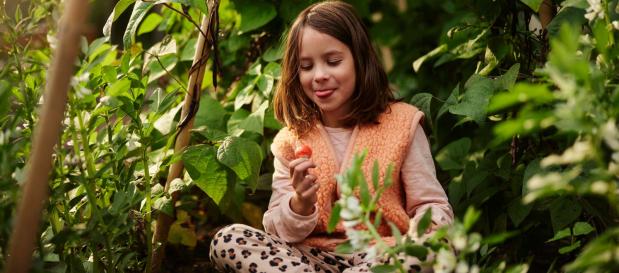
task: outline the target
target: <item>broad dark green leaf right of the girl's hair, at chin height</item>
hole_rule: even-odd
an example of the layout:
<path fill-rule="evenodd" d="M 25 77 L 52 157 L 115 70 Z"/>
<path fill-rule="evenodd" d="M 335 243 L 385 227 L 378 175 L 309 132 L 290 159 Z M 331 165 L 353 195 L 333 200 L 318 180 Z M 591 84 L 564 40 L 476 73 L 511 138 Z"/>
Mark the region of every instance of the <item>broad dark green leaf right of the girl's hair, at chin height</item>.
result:
<path fill-rule="evenodd" d="M 464 87 L 466 91 L 462 101 L 449 107 L 449 112 L 466 116 L 481 125 L 486 119 L 486 107 L 496 88 L 494 82 L 474 74 Z"/>

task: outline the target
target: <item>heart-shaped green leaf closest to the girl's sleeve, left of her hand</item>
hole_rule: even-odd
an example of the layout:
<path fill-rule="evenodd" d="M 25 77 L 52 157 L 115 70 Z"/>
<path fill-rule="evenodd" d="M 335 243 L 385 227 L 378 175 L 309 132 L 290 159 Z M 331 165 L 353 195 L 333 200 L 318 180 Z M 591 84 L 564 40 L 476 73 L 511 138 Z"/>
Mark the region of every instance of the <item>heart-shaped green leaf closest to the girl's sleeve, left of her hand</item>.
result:
<path fill-rule="evenodd" d="M 236 173 L 241 180 L 247 180 L 252 189 L 257 186 L 262 148 L 256 142 L 240 137 L 227 137 L 217 150 L 217 159 Z"/>

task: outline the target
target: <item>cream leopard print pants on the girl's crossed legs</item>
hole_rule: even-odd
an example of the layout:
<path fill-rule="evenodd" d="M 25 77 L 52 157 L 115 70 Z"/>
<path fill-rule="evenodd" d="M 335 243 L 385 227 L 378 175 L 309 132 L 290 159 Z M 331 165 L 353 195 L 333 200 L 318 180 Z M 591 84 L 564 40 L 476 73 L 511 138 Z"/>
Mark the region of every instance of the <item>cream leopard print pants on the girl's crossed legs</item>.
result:
<path fill-rule="evenodd" d="M 375 260 L 365 253 L 341 254 L 284 242 L 277 236 L 241 224 L 222 228 L 210 247 L 211 261 L 221 272 L 371 272 Z M 403 260 L 401 260 L 403 261 Z M 409 272 L 421 271 L 418 261 Z M 425 270 L 424 270 L 425 271 Z"/>

